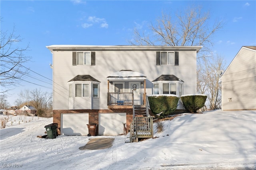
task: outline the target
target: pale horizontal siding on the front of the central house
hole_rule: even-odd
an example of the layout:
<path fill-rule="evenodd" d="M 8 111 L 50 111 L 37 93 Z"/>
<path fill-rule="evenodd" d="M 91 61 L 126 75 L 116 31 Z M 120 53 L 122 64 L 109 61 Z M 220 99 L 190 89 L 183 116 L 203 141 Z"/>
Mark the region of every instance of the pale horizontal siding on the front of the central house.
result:
<path fill-rule="evenodd" d="M 95 50 L 92 49 L 91 51 Z M 72 51 L 53 51 L 53 65 L 54 110 L 69 109 L 68 81 L 76 75 L 90 75 L 100 81 L 100 109 L 108 108 L 107 77 L 111 73 L 120 70 L 133 70 L 146 75 L 147 95 L 152 94 L 152 83 L 150 81 L 160 75 L 170 74 L 184 81 L 184 95 L 196 93 L 196 51 L 179 51 L 178 66 L 156 65 L 156 51 L 154 50 L 96 51 L 96 65 L 72 65 Z M 75 103 L 75 108 L 91 109 L 88 102 L 81 98 L 79 103 Z"/>

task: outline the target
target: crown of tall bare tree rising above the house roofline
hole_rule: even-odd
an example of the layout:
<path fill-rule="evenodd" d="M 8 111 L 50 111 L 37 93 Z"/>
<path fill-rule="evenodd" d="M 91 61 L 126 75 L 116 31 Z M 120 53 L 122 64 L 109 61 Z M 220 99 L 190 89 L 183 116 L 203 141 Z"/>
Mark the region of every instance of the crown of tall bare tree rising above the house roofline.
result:
<path fill-rule="evenodd" d="M 132 45 L 204 46 L 212 45 L 212 36 L 222 28 L 222 21 L 210 26 L 210 13 L 201 12 L 201 7 L 187 8 L 175 16 L 162 13 L 156 24 L 149 26 L 151 32 L 134 29 Z M 202 51 L 202 50 L 201 50 Z"/>

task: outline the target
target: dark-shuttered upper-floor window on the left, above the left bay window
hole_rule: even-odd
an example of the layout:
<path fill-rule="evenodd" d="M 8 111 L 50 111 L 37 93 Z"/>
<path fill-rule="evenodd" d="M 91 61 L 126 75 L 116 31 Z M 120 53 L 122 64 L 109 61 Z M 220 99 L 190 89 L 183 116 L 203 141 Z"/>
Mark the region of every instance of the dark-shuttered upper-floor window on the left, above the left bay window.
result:
<path fill-rule="evenodd" d="M 95 51 L 73 51 L 73 65 L 95 65 Z"/>

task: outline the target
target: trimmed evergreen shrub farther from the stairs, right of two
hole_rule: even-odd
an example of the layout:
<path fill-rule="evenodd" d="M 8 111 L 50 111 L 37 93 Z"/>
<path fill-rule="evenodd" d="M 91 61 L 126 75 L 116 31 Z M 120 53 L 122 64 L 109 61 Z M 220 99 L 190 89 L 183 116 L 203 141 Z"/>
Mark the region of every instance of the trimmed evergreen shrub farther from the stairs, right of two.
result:
<path fill-rule="evenodd" d="M 190 113 L 196 113 L 199 109 L 204 107 L 206 101 L 206 95 L 182 95 L 181 100 L 186 111 Z"/>

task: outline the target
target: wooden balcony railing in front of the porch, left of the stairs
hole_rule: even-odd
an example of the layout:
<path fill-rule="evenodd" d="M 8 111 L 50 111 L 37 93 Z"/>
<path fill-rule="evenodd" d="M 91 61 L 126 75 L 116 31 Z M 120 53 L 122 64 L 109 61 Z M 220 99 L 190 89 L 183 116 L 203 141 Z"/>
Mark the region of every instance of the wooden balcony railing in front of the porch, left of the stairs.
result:
<path fill-rule="evenodd" d="M 108 106 L 132 106 L 133 100 L 133 93 L 108 93 Z"/>

